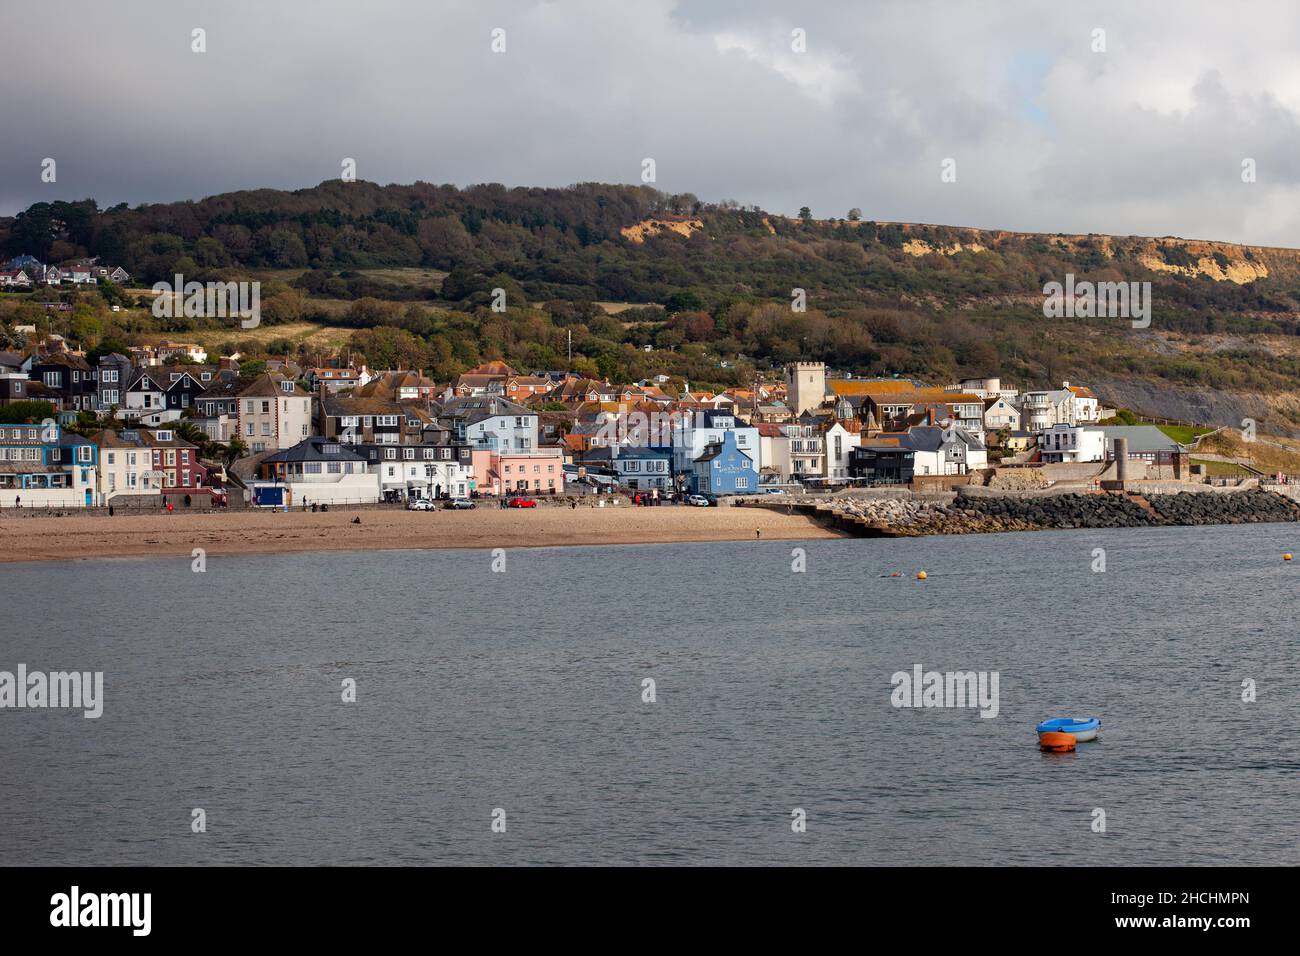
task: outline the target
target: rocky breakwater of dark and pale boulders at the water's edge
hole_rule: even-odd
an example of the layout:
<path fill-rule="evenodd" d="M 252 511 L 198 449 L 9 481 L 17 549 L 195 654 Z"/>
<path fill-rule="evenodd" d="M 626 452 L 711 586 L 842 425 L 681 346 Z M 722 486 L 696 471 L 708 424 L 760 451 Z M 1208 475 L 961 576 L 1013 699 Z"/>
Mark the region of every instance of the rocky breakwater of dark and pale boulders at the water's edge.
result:
<path fill-rule="evenodd" d="M 1300 505 L 1270 492 L 1187 492 L 1150 498 L 1121 493 L 958 496 L 952 503 L 842 498 L 835 502 L 835 511 L 858 519 L 866 533 L 890 537 L 1300 520 Z"/>

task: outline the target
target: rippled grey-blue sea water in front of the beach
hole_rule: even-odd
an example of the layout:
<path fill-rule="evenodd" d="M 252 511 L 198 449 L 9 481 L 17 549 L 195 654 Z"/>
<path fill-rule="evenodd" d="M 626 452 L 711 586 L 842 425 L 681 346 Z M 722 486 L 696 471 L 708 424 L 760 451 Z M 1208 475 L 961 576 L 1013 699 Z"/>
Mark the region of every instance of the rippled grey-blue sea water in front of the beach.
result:
<path fill-rule="evenodd" d="M 1283 551 L 1300 525 L 0 566 L 0 670 L 105 684 L 98 721 L 0 710 L 0 865 L 1296 864 Z M 890 706 L 916 663 L 997 671 L 998 715 Z"/>

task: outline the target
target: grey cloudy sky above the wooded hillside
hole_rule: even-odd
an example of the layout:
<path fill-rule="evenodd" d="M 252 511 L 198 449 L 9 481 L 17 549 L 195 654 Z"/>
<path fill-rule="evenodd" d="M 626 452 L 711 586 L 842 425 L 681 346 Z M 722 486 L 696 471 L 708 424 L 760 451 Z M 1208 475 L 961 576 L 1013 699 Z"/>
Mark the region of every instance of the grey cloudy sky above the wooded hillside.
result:
<path fill-rule="evenodd" d="M 640 182 L 651 157 L 660 189 L 792 215 L 1300 246 L 1286 1 L 39 9 L 0 33 L 0 215 L 298 189 L 344 157 L 384 183 L 543 186 Z"/>

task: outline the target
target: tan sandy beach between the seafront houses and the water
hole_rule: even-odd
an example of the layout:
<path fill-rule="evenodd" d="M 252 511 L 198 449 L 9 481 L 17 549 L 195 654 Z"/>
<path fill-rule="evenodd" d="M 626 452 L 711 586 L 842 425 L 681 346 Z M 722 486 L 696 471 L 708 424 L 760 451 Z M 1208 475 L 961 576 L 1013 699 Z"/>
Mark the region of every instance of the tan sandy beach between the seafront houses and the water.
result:
<path fill-rule="evenodd" d="M 352 519 L 360 518 L 360 524 Z M 61 518 L 0 516 L 0 563 L 78 558 L 391 550 L 552 548 L 754 538 L 837 537 L 801 515 L 744 507 L 558 506 L 473 511 L 329 511 Z"/>

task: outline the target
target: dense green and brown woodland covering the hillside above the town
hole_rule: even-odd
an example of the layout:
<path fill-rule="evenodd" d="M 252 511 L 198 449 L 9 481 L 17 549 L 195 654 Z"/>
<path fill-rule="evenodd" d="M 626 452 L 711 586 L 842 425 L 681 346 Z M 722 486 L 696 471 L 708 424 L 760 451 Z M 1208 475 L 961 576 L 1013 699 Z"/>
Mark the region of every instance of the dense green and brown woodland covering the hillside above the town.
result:
<path fill-rule="evenodd" d="M 689 238 L 625 239 L 646 219 L 698 217 Z M 1300 330 L 1300 263 L 1271 251 L 1270 274 L 1238 285 L 1153 273 L 1139 254 L 1193 264 L 1175 242 L 983 234 L 983 248 L 916 256 L 910 241 L 970 245 L 970 230 L 852 219 L 768 216 L 646 186 L 458 189 L 326 182 L 199 202 L 99 209 L 92 200 L 39 203 L 0 219 L 0 250 L 49 263 L 98 256 L 133 285 L 259 277 L 263 323 L 315 321 L 356 329 L 356 356 L 448 378 L 489 358 L 516 367 L 572 367 L 615 381 L 664 372 L 699 386 L 750 381 L 755 369 L 822 359 L 854 373 L 948 381 L 1001 372 L 1028 386 L 1062 376 L 1158 378 L 1219 389 L 1294 389 L 1300 364 L 1261 347 L 1262 334 Z M 1242 250 L 1252 259 L 1262 251 Z M 1221 265 L 1227 265 L 1226 256 Z M 404 281 L 399 268 L 446 273 Z M 1153 284 L 1153 330 L 1124 320 L 1041 315 L 1041 287 L 1066 273 Z M 508 308 L 493 312 L 494 289 Z M 807 311 L 790 308 L 792 290 Z M 47 312 L 40 300 L 70 311 Z M 31 299 L 25 302 L 25 299 Z M 92 294 L 40 289 L 0 299 L 0 345 L 16 324 L 38 324 L 92 351 L 157 332 L 218 328 L 218 320 L 159 320 L 112 285 Z M 606 315 L 599 302 L 645 303 Z M 1213 354 L 1153 347 L 1154 330 L 1195 343 L 1240 341 Z M 568 346 L 572 336 L 572 360 Z M 244 352 L 294 351 L 291 341 L 240 338 Z M 650 346 L 650 351 L 646 351 Z M 312 358 L 312 356 L 307 356 Z"/>

